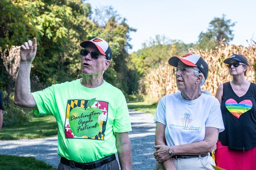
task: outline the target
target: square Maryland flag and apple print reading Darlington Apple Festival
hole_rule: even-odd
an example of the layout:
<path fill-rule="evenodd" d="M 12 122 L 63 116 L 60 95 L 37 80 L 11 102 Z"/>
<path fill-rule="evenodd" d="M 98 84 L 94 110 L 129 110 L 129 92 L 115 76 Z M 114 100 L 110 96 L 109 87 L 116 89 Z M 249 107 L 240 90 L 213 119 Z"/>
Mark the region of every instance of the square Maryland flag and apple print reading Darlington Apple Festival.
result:
<path fill-rule="evenodd" d="M 108 102 L 68 100 L 65 121 L 65 137 L 104 140 L 108 119 Z"/>

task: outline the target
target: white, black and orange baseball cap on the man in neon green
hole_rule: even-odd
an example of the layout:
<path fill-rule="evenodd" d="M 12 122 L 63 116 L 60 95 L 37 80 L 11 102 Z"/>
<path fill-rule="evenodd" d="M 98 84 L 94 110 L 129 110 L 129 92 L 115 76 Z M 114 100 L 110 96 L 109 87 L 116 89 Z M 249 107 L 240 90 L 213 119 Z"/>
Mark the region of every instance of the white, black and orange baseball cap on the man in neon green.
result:
<path fill-rule="evenodd" d="M 111 59 L 112 57 L 111 48 L 109 44 L 102 38 L 93 38 L 90 41 L 83 41 L 80 43 L 80 46 L 85 48 L 88 44 L 94 44 L 98 48 L 101 54 L 106 55 L 108 60 Z"/>

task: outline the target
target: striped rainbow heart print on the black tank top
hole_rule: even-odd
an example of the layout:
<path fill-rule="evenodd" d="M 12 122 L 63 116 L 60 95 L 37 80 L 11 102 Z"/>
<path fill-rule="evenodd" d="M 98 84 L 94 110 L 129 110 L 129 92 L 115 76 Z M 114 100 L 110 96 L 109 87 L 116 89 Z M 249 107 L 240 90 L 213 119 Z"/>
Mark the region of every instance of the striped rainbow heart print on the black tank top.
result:
<path fill-rule="evenodd" d="M 225 106 L 227 107 L 228 111 L 236 116 L 237 119 L 244 113 L 247 112 L 252 108 L 252 101 L 251 100 L 243 100 L 240 103 L 237 103 L 234 99 L 228 99 L 225 102 Z"/>

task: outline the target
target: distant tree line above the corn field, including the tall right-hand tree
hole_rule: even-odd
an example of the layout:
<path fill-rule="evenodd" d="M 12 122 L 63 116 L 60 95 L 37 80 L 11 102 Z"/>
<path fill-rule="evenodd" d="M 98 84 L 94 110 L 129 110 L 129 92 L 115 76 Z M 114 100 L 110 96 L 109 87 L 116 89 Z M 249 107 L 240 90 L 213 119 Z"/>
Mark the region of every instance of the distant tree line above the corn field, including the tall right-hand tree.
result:
<path fill-rule="evenodd" d="M 215 17 L 210 21 L 207 31 L 202 31 L 198 35 L 198 40 L 189 44 L 180 40 L 171 40 L 164 35 L 156 35 L 148 43 L 143 43 L 143 48 L 132 53 L 131 60 L 139 77 L 143 77 L 152 68 L 167 63 L 171 56 L 183 56 L 188 53 L 189 48 L 210 50 L 218 48 L 223 43 L 228 44 L 234 38 L 232 27 L 235 24 L 230 19 L 226 19 L 224 14 L 220 18 Z"/>

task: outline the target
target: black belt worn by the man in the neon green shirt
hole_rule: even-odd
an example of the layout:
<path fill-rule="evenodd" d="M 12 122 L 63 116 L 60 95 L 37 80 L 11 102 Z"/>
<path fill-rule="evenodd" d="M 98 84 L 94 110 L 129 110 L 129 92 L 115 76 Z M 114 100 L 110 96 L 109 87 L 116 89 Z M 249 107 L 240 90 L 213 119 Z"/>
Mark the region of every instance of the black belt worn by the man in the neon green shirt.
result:
<path fill-rule="evenodd" d="M 116 159 L 116 155 L 112 154 L 112 155 L 109 155 L 109 156 L 107 156 L 105 158 L 102 158 L 100 160 L 97 160 L 97 161 L 94 161 L 94 162 L 88 162 L 88 163 L 79 163 L 79 162 L 75 162 L 75 161 L 72 161 L 72 160 L 68 160 L 64 157 L 60 158 L 60 162 L 62 164 L 71 166 L 72 168 L 93 169 L 93 168 L 100 167 L 100 166 L 102 166 L 102 165 L 104 165 L 108 162 L 111 162 L 115 159 Z"/>

